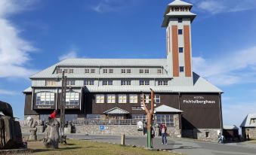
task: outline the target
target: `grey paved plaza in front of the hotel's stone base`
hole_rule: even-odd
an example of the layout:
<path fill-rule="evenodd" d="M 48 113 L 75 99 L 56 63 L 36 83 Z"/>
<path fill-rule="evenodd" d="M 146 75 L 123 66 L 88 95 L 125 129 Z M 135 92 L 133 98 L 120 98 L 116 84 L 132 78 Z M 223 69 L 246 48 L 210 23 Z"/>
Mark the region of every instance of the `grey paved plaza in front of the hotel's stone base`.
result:
<path fill-rule="evenodd" d="M 121 136 L 116 135 L 68 135 L 68 138 L 76 138 L 82 140 L 112 142 L 120 144 Z M 168 144 L 162 144 L 161 137 L 153 139 L 153 146 L 156 149 L 173 150 L 175 152 L 188 155 L 255 155 L 256 144 L 230 143 L 230 144 L 214 144 L 201 141 L 193 141 L 184 138 L 168 138 Z M 147 137 L 145 136 L 127 136 L 125 144 L 137 145 L 141 147 L 147 146 Z"/>

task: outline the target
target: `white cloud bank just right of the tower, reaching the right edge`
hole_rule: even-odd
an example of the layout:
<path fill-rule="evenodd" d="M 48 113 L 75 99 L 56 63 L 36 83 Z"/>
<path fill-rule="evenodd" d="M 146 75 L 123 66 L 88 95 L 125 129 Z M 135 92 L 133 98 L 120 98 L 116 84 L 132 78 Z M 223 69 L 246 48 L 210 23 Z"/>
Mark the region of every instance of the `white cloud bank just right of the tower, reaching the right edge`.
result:
<path fill-rule="evenodd" d="M 217 58 L 193 57 L 193 68 L 194 71 L 219 86 L 255 83 L 256 73 L 252 69 L 256 66 L 255 58 L 256 46 L 226 53 Z"/>

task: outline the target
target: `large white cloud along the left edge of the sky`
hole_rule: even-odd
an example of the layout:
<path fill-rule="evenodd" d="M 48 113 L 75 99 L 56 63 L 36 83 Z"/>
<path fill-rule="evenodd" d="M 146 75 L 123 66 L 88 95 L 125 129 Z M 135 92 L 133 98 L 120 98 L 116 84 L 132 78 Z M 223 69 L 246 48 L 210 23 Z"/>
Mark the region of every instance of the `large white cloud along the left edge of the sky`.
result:
<path fill-rule="evenodd" d="M 0 78 L 27 78 L 35 70 L 24 67 L 29 61 L 29 53 L 35 47 L 19 36 L 19 30 L 8 20 L 8 16 L 26 10 L 31 5 L 29 0 L 0 1 Z"/>

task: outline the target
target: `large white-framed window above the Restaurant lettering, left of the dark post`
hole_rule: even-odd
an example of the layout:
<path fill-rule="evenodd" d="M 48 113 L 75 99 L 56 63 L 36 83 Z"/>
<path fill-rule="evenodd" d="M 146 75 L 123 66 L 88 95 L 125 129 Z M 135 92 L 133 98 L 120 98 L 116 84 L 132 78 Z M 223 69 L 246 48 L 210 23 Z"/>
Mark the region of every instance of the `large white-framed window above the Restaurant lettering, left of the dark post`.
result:
<path fill-rule="evenodd" d="M 54 93 L 36 93 L 35 105 L 54 105 Z"/>

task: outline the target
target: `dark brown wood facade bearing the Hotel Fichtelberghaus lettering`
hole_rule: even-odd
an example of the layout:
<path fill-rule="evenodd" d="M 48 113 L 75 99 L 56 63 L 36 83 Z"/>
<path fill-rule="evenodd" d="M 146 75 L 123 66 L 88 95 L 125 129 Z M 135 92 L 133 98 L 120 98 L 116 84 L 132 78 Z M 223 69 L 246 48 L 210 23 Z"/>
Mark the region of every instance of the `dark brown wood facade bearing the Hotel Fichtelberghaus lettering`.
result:
<path fill-rule="evenodd" d="M 105 96 L 105 103 L 96 103 L 96 94 Z M 115 94 L 116 103 L 106 103 L 106 95 Z M 126 94 L 128 103 L 118 103 L 118 94 Z M 129 103 L 129 94 L 137 94 L 137 103 Z M 167 105 L 184 111 L 181 114 L 182 129 L 221 129 L 221 96 L 219 93 L 156 93 L 160 95 L 159 105 Z M 56 94 L 57 95 L 57 94 Z M 55 96 L 56 96 L 55 95 Z M 81 94 L 80 94 L 81 95 Z M 35 98 L 34 98 L 35 99 Z M 60 109 L 60 94 L 57 109 Z M 103 114 L 112 108 L 121 108 L 130 114 L 145 114 L 140 108 L 140 93 L 82 93 L 81 109 L 79 107 L 67 108 L 66 114 Z M 35 104 L 35 101 L 34 101 Z M 150 104 L 147 104 L 150 105 Z M 54 105 L 56 108 L 56 105 Z M 26 93 L 25 115 L 51 114 L 54 109 L 32 108 L 32 93 Z"/>

